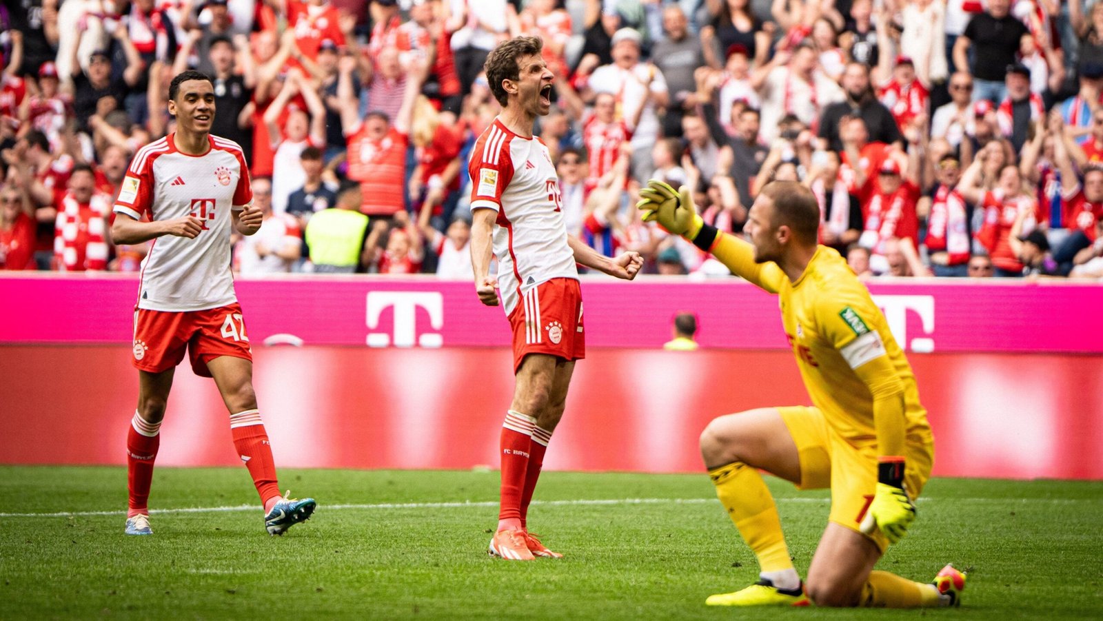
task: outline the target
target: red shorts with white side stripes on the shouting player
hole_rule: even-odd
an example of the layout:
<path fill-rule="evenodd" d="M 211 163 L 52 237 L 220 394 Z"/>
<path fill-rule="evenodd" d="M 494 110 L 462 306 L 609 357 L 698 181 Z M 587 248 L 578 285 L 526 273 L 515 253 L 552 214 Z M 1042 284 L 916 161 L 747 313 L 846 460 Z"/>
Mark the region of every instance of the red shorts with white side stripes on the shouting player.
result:
<path fill-rule="evenodd" d="M 582 289 L 574 278 L 553 278 L 521 295 L 510 313 L 513 326 L 513 372 L 528 354 L 565 360 L 586 357 Z"/>

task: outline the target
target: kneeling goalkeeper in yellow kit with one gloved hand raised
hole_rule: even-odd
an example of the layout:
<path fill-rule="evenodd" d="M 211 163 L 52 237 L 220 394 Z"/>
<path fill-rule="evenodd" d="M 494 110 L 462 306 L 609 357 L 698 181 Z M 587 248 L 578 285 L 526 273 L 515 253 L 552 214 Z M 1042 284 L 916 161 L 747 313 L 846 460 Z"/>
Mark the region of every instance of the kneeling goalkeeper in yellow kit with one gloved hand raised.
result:
<path fill-rule="evenodd" d="M 720 502 L 759 560 L 760 579 L 709 606 L 920 608 L 959 603 L 965 575 L 947 565 L 933 583 L 874 571 L 915 518 L 913 500 L 934 457 L 911 366 L 885 317 L 835 250 L 816 243 L 820 207 L 796 182 L 764 186 L 743 232 L 704 224 L 693 197 L 652 180 L 644 220 L 682 235 L 742 278 L 780 296 L 782 323 L 812 407 L 721 416 L 700 436 Z M 829 523 L 801 581 L 759 469 L 799 489 L 831 488 Z"/>

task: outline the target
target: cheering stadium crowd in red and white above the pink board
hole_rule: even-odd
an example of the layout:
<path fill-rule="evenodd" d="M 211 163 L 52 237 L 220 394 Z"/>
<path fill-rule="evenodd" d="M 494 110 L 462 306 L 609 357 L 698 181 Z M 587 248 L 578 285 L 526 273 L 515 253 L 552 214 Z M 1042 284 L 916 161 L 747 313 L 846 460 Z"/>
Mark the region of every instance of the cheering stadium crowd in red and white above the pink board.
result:
<path fill-rule="evenodd" d="M 139 269 L 114 197 L 197 68 L 265 211 L 235 269 L 469 279 L 482 65 L 536 34 L 568 233 L 603 254 L 726 275 L 640 184 L 738 233 L 777 179 L 864 277 L 1103 277 L 1103 0 L 14 0 L 0 28 L 4 269 Z"/>

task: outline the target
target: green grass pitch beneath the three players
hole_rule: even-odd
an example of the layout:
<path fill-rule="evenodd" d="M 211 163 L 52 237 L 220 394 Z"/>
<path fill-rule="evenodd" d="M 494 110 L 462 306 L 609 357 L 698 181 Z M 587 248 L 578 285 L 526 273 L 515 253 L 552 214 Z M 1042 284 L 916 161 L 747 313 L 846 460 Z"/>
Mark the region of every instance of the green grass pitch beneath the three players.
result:
<path fill-rule="evenodd" d="M 757 565 L 704 474 L 546 473 L 529 526 L 567 557 L 534 563 L 486 557 L 496 472 L 280 475 L 319 501 L 283 537 L 265 533 L 243 468 L 159 469 L 154 535 L 128 537 L 124 469 L 0 467 L 0 619 L 1103 617 L 1100 482 L 933 480 L 880 567 L 973 567 L 959 610 L 736 610 L 705 597 Z M 826 493 L 769 481 L 803 571 Z"/>

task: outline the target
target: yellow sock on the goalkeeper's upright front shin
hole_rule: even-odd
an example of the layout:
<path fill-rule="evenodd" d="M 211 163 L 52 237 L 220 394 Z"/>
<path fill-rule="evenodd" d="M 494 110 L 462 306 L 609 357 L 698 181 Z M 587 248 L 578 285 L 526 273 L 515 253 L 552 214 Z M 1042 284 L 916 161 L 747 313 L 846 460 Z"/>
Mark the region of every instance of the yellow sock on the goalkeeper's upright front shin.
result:
<path fill-rule="evenodd" d="M 735 462 L 708 471 L 720 504 L 758 557 L 763 574 L 793 569 L 778 506 L 758 470 Z"/>

